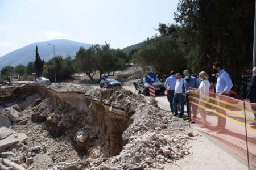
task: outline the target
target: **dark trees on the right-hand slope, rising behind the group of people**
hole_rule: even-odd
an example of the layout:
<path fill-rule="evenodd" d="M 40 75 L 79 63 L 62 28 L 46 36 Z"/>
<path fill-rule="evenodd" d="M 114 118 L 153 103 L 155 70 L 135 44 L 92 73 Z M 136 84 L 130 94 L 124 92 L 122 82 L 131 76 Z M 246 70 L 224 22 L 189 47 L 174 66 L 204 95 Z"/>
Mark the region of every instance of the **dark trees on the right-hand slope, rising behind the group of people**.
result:
<path fill-rule="evenodd" d="M 224 64 L 234 82 L 251 69 L 255 2 L 180 1 L 175 24 L 160 23 L 158 35 L 124 50 L 146 70 L 166 77 L 171 70 L 207 71 Z"/>

